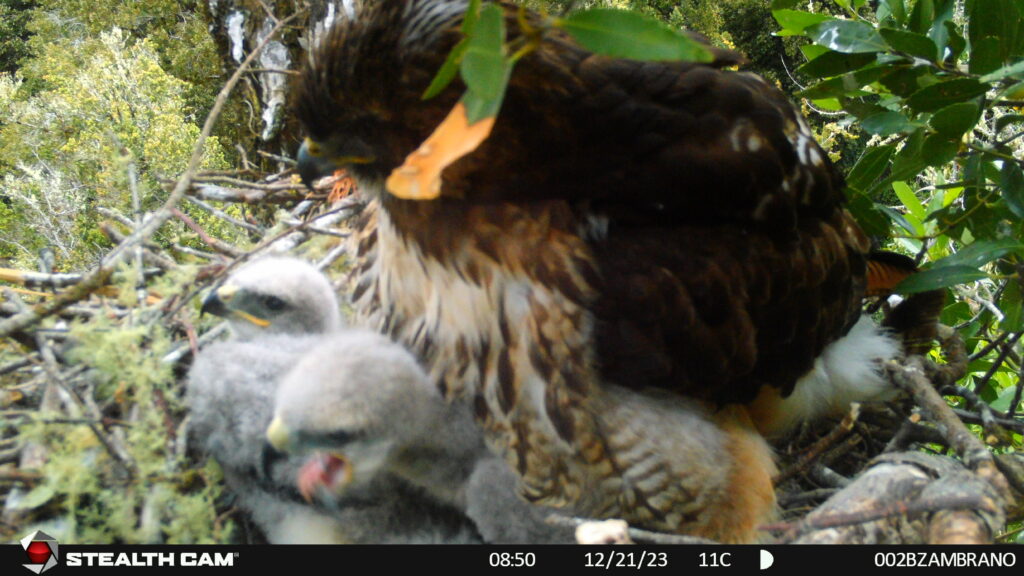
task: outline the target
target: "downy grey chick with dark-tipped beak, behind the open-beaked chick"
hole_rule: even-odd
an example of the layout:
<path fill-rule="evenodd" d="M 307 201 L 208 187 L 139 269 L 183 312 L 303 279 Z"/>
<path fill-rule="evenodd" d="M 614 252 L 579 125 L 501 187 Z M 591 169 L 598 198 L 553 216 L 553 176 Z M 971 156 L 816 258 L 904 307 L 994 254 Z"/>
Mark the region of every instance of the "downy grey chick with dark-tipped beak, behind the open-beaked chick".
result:
<path fill-rule="evenodd" d="M 203 348 L 188 374 L 188 435 L 215 458 L 228 489 L 274 544 L 440 543 L 479 541 L 451 506 L 381 475 L 330 507 L 302 500 L 295 481 L 302 458 L 265 450 L 279 382 L 310 348 L 341 325 L 330 283 L 295 258 L 255 260 L 204 302 L 226 318 L 234 339 Z"/>

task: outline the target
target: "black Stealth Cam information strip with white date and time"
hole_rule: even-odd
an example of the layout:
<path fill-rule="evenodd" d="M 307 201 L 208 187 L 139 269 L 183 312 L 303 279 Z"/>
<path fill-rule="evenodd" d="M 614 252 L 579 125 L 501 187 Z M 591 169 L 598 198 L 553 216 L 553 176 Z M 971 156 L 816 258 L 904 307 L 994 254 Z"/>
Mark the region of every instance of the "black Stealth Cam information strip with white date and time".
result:
<path fill-rule="evenodd" d="M 37 550 L 38 552 L 38 550 Z M 796 574 L 837 569 L 855 575 L 874 571 L 935 569 L 959 573 L 1021 573 L 1019 546 L 151 546 L 62 545 L 43 574 L 130 574 L 201 570 L 220 574 L 279 570 L 364 574 L 414 569 L 571 574 L 632 571 L 648 574 Z M 0 572 L 40 573 L 48 562 L 22 545 L 0 546 Z M 1021 559 L 1024 561 L 1024 559 Z M 25 568 L 25 565 L 29 565 Z M 825 576 L 830 576 L 825 573 Z"/>

